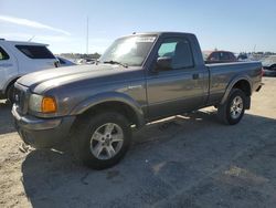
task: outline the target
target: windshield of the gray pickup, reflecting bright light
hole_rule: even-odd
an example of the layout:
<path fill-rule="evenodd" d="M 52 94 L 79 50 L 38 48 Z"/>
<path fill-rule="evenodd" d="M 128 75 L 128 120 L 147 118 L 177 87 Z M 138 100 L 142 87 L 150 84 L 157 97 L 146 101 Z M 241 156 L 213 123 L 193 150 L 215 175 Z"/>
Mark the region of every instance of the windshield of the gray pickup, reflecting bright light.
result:
<path fill-rule="evenodd" d="M 118 39 L 100 56 L 99 62 L 119 62 L 129 66 L 141 66 L 155 40 L 155 35 Z"/>

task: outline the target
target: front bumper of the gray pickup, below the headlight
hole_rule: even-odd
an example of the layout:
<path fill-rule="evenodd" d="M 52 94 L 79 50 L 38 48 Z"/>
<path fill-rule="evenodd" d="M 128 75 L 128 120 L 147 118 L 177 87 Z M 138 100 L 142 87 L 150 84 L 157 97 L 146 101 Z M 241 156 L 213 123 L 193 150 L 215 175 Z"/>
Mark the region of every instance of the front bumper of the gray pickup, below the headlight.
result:
<path fill-rule="evenodd" d="M 66 139 L 75 116 L 59 118 L 38 118 L 20 115 L 12 106 L 14 126 L 25 144 L 35 148 L 52 148 Z"/>

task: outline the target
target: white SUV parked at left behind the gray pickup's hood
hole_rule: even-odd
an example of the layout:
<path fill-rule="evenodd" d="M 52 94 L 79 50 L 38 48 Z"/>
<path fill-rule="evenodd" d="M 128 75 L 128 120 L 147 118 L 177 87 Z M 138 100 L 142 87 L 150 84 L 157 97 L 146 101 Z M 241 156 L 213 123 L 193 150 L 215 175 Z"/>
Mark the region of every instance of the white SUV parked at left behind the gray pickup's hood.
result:
<path fill-rule="evenodd" d="M 57 66 L 46 44 L 0 39 L 0 98 L 12 100 L 13 84 L 24 74 Z"/>

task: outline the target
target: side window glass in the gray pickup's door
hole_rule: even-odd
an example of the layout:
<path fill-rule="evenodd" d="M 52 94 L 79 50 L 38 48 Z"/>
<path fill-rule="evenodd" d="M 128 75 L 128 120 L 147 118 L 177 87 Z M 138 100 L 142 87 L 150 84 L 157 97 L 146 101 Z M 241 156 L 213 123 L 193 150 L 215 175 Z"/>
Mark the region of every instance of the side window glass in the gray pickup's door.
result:
<path fill-rule="evenodd" d="M 192 67 L 193 55 L 190 43 L 184 39 L 168 39 L 158 50 L 158 56 L 171 58 L 171 67 L 173 70 Z"/>

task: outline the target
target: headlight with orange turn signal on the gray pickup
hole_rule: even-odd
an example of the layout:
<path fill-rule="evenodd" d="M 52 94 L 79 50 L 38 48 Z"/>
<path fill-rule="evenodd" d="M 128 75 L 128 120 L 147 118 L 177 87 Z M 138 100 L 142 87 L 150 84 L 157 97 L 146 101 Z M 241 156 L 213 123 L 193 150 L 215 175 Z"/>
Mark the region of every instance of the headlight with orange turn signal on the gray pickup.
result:
<path fill-rule="evenodd" d="M 40 113 L 55 113 L 57 110 L 53 97 L 36 94 L 30 96 L 29 107 L 31 111 Z"/>

